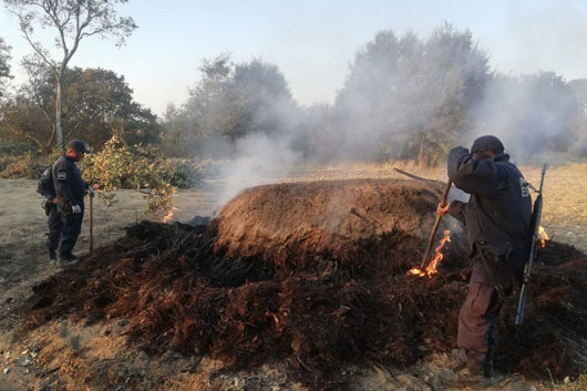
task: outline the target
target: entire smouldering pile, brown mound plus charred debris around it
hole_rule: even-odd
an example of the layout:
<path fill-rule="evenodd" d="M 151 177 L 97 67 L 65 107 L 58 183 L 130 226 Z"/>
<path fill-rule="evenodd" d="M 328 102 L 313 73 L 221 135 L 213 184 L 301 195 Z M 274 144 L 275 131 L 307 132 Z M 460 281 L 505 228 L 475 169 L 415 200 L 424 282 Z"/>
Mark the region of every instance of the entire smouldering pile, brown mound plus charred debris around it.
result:
<path fill-rule="evenodd" d="M 340 389 L 349 364 L 404 367 L 454 348 L 466 259 L 451 246 L 430 278 L 408 274 L 437 199 L 399 181 L 249 189 L 208 227 L 128 228 L 35 286 L 24 326 L 125 318 L 152 353 L 210 354 L 233 368 L 279 360 L 312 389 Z M 586 281 L 585 255 L 554 243 L 539 250 L 524 326 L 513 327 L 513 303 L 504 308 L 502 370 L 587 368 Z"/>

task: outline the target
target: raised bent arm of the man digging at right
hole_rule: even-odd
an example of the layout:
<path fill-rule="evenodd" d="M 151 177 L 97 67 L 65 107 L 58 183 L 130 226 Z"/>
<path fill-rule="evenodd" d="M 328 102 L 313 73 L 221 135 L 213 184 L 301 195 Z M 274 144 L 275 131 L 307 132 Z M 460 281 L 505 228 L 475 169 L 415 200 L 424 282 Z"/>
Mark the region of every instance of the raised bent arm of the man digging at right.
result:
<path fill-rule="evenodd" d="M 500 177 L 491 161 L 477 161 L 467 148 L 457 146 L 449 153 L 449 178 L 468 194 L 496 198 Z"/>

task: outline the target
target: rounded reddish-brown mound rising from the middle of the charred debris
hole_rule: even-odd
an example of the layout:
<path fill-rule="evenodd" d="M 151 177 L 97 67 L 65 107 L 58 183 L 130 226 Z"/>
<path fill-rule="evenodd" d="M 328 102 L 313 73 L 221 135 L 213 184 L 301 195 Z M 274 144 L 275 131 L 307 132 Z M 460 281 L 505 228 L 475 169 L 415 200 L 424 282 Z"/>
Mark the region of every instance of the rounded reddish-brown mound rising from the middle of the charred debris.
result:
<path fill-rule="evenodd" d="M 398 272 L 421 257 L 442 188 L 440 182 L 411 179 L 249 188 L 213 222 L 214 249 L 224 257 L 258 258 L 280 274 L 323 269 L 327 259 L 353 276 Z"/>

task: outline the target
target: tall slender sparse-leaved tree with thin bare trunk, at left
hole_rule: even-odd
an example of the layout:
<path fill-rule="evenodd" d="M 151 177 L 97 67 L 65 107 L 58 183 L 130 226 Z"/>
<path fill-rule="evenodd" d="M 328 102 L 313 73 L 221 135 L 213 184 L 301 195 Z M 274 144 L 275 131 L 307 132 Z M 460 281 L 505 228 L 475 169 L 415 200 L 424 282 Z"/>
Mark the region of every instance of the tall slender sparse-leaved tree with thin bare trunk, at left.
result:
<path fill-rule="evenodd" d="M 58 146 L 64 148 L 62 131 L 63 82 L 65 71 L 80 42 L 87 37 L 110 35 L 122 45 L 136 29 L 132 18 L 116 16 L 114 6 L 127 0 L 4 0 L 7 7 L 19 17 L 20 29 L 34 52 L 51 69 L 55 79 L 55 132 Z M 61 60 L 33 40 L 34 28 L 53 28 L 55 44 L 61 49 Z"/>

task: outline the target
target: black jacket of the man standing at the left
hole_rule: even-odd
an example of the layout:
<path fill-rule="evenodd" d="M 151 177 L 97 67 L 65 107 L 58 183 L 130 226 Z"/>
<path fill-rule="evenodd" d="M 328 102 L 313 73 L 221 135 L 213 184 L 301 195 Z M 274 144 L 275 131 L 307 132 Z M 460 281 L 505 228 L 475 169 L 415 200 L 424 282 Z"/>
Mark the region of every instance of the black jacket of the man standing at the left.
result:
<path fill-rule="evenodd" d="M 82 179 L 82 172 L 71 157 L 58 158 L 53 165 L 53 184 L 58 197 L 65 198 L 72 206 L 83 206 L 87 184 Z"/>

